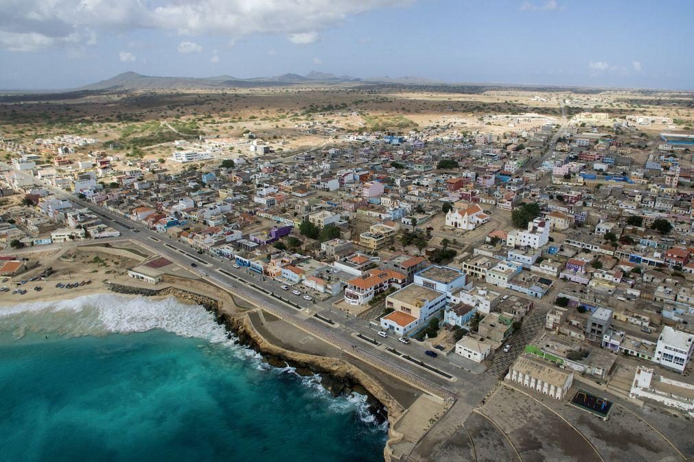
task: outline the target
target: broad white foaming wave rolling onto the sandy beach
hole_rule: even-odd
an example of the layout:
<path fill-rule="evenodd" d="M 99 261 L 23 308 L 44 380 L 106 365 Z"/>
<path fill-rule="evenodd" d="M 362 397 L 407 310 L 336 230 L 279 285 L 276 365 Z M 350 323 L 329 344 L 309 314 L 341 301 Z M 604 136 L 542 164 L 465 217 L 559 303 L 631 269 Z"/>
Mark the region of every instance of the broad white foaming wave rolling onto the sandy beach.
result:
<path fill-rule="evenodd" d="M 228 342 L 223 326 L 200 305 L 181 303 L 174 297 L 92 294 L 73 300 L 20 303 L 0 307 L 0 330 L 21 337 L 27 330 L 55 332 L 68 337 L 162 329 L 182 337 L 212 343 Z"/>

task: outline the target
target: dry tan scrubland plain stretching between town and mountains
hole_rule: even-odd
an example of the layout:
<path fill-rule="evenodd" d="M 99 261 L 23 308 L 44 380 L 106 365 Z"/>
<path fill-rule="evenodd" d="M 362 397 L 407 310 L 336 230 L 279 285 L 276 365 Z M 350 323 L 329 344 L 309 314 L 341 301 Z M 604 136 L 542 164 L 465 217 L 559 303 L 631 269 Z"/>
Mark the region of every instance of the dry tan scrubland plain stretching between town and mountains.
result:
<path fill-rule="evenodd" d="M 77 148 L 78 153 L 103 149 L 132 159 L 166 159 L 176 139 L 200 134 L 237 138 L 248 130 L 278 154 L 340 143 L 349 133 L 407 133 L 436 125 L 502 134 L 509 130 L 508 121 L 482 121 L 482 116 L 530 112 L 559 119 L 559 100 L 568 100 L 569 116 L 582 111 L 670 116 L 676 130 L 691 127 L 694 119 L 691 94 L 484 89 L 344 84 L 8 95 L 0 97 L 0 134 L 25 145 L 35 138 L 78 134 L 101 141 Z M 521 122 L 514 130 L 532 125 Z M 646 126 L 641 132 L 654 136 L 663 128 Z M 232 150 L 246 154 L 238 151 Z"/>

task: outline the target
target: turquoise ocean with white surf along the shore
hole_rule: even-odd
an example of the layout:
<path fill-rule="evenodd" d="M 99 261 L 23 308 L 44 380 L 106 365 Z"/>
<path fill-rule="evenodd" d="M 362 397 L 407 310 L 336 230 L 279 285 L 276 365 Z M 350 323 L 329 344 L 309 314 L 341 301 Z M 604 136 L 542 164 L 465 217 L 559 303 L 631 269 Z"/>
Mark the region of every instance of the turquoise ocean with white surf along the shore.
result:
<path fill-rule="evenodd" d="M 0 458 L 382 460 L 387 424 L 319 380 L 265 364 L 173 298 L 0 307 Z"/>

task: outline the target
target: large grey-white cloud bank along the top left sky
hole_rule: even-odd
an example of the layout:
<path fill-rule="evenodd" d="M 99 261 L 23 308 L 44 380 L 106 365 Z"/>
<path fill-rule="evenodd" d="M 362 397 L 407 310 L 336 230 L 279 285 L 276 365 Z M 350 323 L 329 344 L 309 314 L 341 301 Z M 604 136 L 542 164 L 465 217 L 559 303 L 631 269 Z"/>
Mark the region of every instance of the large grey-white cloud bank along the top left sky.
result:
<path fill-rule="evenodd" d="M 0 0 L 0 47 L 33 51 L 64 46 L 77 33 L 162 30 L 179 35 L 217 35 L 229 40 L 282 34 L 307 44 L 320 30 L 378 8 L 416 0 Z M 74 36 L 73 36 L 74 37 Z M 92 41 L 93 42 L 93 41 Z"/>

